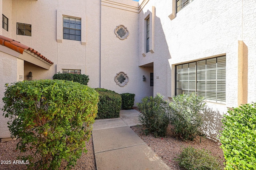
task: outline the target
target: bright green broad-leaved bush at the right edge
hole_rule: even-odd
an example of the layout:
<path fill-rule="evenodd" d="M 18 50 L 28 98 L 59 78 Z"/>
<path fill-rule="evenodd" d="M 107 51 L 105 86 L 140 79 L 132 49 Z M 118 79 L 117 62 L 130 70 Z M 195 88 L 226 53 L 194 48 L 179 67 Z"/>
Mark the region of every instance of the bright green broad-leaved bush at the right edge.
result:
<path fill-rule="evenodd" d="M 228 111 L 222 120 L 220 137 L 226 170 L 255 170 L 256 167 L 256 103 L 244 104 Z"/>

